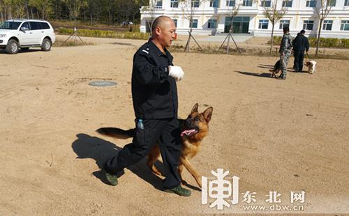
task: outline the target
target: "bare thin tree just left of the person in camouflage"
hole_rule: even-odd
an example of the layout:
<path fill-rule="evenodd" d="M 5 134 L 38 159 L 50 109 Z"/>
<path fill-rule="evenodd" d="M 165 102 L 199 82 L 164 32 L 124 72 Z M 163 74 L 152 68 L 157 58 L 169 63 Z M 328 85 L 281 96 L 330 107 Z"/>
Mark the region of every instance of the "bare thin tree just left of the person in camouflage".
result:
<path fill-rule="evenodd" d="M 271 0 L 270 6 L 267 5 L 267 1 L 262 0 L 261 6 L 264 9 L 263 15 L 267 17 L 268 20 L 270 20 L 270 22 L 272 23 L 272 38 L 270 40 L 270 54 L 272 54 L 274 43 L 274 27 L 276 22 L 279 22 L 279 20 L 281 20 L 282 17 L 285 15 L 287 8 L 281 5 L 281 8 L 278 9 L 278 0 Z"/>

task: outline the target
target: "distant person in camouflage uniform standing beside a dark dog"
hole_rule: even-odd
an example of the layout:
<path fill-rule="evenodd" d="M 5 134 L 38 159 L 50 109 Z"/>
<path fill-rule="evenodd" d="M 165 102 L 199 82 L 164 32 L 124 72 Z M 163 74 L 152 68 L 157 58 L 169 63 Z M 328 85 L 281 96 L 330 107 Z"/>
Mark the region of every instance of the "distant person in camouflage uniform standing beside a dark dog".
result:
<path fill-rule="evenodd" d="M 282 74 L 280 79 L 286 79 L 288 59 L 291 56 L 292 49 L 292 37 L 290 35 L 290 29 L 288 27 L 283 28 L 283 38 L 280 45 L 280 61 L 281 61 L 281 71 Z"/>

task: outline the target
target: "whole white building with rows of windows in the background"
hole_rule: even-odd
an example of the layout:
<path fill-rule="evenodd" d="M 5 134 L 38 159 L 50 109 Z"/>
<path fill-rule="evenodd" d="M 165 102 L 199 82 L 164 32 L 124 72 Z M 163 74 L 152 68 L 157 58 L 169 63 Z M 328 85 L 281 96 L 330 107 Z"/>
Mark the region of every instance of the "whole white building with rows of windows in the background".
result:
<path fill-rule="evenodd" d="M 186 34 L 189 21 L 184 15 L 184 6 L 179 0 L 150 0 L 156 2 L 155 10 L 141 8 L 141 32 L 149 32 L 147 22 L 151 17 L 167 15 L 177 24 L 177 33 Z M 200 2 L 202 1 L 202 2 Z M 253 36 L 270 36 L 272 24 L 263 15 L 262 0 L 193 0 L 195 15 L 193 16 L 193 34 L 214 35 L 228 33 L 231 17 L 229 11 L 235 3 L 242 3 L 237 17 L 233 20 L 234 33 L 250 33 Z M 265 0 L 267 5 L 275 0 Z M 349 0 L 333 0 L 333 7 L 324 24 L 322 37 L 349 38 Z M 319 20 L 315 7 L 320 6 L 320 0 L 279 0 L 278 7 L 288 8 L 285 16 L 274 28 L 275 35 L 282 35 L 283 26 L 290 27 L 290 33 L 297 34 L 305 29 L 307 35 L 315 36 Z"/>

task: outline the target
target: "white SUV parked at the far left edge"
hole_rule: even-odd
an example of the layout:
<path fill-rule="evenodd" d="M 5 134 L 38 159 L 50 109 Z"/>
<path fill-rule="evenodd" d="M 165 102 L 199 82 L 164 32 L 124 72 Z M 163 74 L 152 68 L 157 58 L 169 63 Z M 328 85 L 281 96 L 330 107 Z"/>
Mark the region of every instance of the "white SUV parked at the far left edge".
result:
<path fill-rule="evenodd" d="M 41 47 L 50 51 L 56 36 L 50 22 L 43 20 L 7 20 L 0 24 L 0 49 L 16 54 L 19 49 Z"/>

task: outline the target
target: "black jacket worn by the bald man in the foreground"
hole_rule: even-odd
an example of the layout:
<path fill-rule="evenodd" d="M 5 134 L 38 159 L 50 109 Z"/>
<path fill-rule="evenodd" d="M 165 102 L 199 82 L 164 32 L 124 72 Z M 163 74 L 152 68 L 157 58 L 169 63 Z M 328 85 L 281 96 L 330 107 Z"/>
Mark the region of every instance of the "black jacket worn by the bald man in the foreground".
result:
<path fill-rule="evenodd" d="M 136 118 L 177 118 L 177 85 L 168 75 L 173 57 L 149 40 L 133 56 L 132 97 Z"/>

